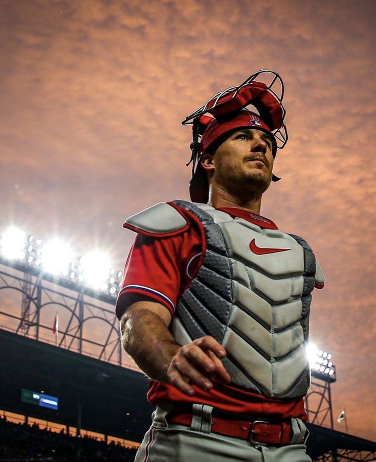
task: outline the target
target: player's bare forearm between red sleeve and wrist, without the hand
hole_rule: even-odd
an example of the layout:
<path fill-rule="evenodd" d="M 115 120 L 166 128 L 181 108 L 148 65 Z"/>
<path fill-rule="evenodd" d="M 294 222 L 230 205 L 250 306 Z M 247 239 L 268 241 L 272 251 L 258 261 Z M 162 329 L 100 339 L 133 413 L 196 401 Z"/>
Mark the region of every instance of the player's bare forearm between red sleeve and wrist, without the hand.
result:
<path fill-rule="evenodd" d="M 167 370 L 180 345 L 155 313 L 129 309 L 120 321 L 122 345 L 151 379 L 168 383 Z"/>

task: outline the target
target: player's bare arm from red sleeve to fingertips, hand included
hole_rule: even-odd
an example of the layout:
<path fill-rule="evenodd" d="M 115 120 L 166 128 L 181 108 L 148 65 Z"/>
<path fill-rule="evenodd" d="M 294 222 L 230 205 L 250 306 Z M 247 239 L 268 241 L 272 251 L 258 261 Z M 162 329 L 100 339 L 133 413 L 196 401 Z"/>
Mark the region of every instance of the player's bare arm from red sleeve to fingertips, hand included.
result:
<path fill-rule="evenodd" d="M 145 374 L 190 396 L 195 393 L 192 385 L 210 390 L 214 377 L 229 383 L 220 361 L 224 348 L 208 335 L 181 347 L 168 330 L 170 321 L 163 305 L 149 301 L 131 304 L 121 318 L 123 348 Z"/>

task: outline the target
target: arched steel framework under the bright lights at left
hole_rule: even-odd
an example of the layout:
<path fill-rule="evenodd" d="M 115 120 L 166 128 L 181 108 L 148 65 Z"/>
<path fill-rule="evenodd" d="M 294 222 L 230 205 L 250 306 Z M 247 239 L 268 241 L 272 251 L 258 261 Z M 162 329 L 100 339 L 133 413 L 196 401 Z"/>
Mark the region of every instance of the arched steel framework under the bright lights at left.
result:
<path fill-rule="evenodd" d="M 6 289 L 13 295 L 20 294 L 20 306 L 10 307 L 9 302 L 7 306 L 2 297 Z M 11 299 L 15 301 L 17 297 L 13 295 Z M 116 293 L 101 293 L 25 262 L 0 257 L 0 300 L 0 324 L 6 330 L 138 370 L 121 349 L 114 310 Z M 49 316 L 45 315 L 47 311 Z M 60 320 L 59 334 L 54 339 L 51 316 L 55 312 L 63 322 Z"/>

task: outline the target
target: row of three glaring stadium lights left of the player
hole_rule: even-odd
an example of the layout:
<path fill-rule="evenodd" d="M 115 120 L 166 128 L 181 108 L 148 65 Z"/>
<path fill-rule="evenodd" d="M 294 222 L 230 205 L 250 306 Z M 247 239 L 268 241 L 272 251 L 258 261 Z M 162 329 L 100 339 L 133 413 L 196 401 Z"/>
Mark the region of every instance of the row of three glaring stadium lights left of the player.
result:
<path fill-rule="evenodd" d="M 111 268 L 108 257 L 97 250 L 80 257 L 61 240 L 42 243 L 11 226 L 1 236 L 0 252 L 9 260 L 27 263 L 43 272 L 114 296 L 120 288 L 122 272 Z"/>

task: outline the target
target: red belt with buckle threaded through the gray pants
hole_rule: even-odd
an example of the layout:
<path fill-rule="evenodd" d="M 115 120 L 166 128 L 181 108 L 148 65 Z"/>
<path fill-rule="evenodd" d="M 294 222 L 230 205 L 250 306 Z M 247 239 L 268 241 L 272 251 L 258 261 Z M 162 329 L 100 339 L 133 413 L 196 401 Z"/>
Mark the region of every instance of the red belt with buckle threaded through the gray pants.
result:
<path fill-rule="evenodd" d="M 192 411 L 181 411 L 179 407 L 167 415 L 167 422 L 190 426 L 192 422 Z M 254 444 L 269 444 L 272 446 L 282 446 L 290 444 L 293 435 L 290 422 L 267 422 L 254 420 L 235 420 L 231 417 L 212 417 L 211 431 L 226 436 L 250 440 Z M 302 443 L 304 440 L 302 441 Z"/>

